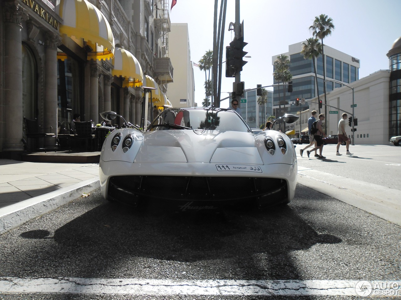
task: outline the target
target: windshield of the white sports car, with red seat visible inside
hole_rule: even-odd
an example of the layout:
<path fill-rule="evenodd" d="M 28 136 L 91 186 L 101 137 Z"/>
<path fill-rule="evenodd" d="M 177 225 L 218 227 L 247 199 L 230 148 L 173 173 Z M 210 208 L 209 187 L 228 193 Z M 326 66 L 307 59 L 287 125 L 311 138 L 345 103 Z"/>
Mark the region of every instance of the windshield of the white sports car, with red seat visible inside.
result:
<path fill-rule="evenodd" d="M 219 109 L 169 109 L 162 112 L 148 126 L 150 131 L 169 129 L 233 130 L 249 132 L 237 113 Z"/>

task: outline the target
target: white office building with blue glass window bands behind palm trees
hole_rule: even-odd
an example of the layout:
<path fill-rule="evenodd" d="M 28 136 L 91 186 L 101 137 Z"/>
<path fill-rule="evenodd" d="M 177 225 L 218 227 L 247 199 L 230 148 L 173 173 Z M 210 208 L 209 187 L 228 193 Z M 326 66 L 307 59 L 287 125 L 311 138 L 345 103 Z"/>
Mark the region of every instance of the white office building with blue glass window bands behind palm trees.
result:
<path fill-rule="evenodd" d="M 291 105 L 296 98 L 310 99 L 317 97 L 317 90 L 319 90 L 320 95 L 324 93 L 322 56 L 320 55 L 315 59 L 316 73 L 318 76 L 317 89 L 313 61 L 311 59 L 305 59 L 301 54 L 301 51 L 302 42 L 299 42 L 288 46 L 288 52 L 283 53 L 288 56 L 288 59 L 290 60 L 292 92 L 288 92 L 288 85 L 275 80 L 273 81 L 274 84 L 277 84 L 277 86 L 273 88 L 273 105 L 277 117 L 282 116 L 287 112 L 296 113 L 299 110 L 298 106 Z M 271 58 L 273 66 L 278 55 L 272 56 Z M 324 57 L 326 63 L 326 80 L 336 80 L 343 84 L 348 84 L 359 79 L 360 63 L 358 59 L 327 45 L 324 45 Z M 330 92 L 334 88 L 340 86 L 340 83 L 326 82 L 326 92 Z M 308 107 L 305 109 L 308 109 Z"/>

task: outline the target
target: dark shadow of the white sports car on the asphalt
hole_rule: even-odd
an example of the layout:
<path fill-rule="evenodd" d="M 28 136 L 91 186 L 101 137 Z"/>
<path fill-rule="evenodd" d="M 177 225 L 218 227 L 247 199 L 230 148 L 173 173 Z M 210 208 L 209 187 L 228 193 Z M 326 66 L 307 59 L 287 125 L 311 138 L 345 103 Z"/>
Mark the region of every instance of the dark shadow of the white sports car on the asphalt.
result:
<path fill-rule="evenodd" d="M 65 274 L 65 266 L 73 266 L 73 274 L 65 276 L 85 278 L 110 272 L 138 278 L 149 268 L 156 272 L 156 264 L 156 270 L 201 268 L 198 279 L 302 279 L 290 252 L 341 242 L 316 232 L 290 206 L 186 214 L 138 212 L 105 200 L 57 229 L 53 237 L 45 230 L 20 236 L 36 243 L 54 239 L 45 249 L 30 252 L 30 262 L 47 253 L 44 274 Z M 27 270 L 30 262 L 24 262 Z"/>

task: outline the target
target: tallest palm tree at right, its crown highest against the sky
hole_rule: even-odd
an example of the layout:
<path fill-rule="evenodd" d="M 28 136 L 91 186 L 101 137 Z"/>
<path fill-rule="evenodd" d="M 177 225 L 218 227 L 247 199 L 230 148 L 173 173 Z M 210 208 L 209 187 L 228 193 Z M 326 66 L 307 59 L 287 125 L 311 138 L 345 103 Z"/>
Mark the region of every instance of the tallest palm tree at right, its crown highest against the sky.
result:
<path fill-rule="evenodd" d="M 333 19 L 329 18 L 325 14 L 316 16 L 313 24 L 309 26 L 309 30 L 315 38 L 319 38 L 322 44 L 322 60 L 323 60 L 323 92 L 324 92 L 324 115 L 327 116 L 327 106 L 326 106 L 326 66 L 324 59 L 324 44 L 323 39 L 326 36 L 331 35 L 332 30 L 334 30 Z"/>

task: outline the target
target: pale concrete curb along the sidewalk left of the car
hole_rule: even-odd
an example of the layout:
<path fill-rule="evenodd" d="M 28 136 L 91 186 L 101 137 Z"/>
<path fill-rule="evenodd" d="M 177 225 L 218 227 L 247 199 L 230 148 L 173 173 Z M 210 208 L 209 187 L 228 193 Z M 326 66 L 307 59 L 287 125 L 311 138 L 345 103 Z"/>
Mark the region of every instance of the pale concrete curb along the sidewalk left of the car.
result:
<path fill-rule="evenodd" d="M 96 177 L 0 208 L 0 234 L 56 210 L 99 187 L 99 177 Z"/>

